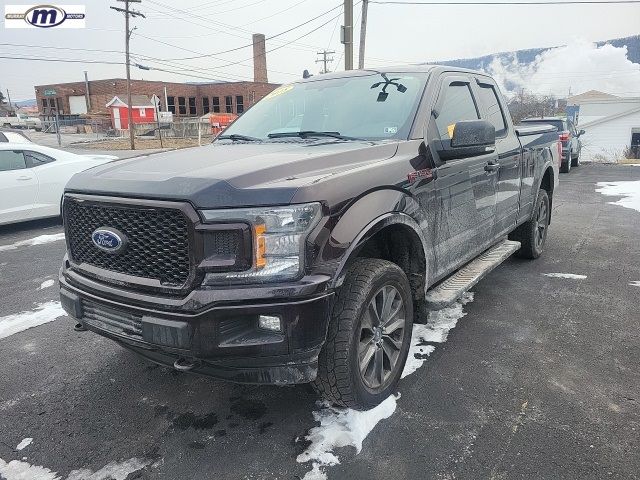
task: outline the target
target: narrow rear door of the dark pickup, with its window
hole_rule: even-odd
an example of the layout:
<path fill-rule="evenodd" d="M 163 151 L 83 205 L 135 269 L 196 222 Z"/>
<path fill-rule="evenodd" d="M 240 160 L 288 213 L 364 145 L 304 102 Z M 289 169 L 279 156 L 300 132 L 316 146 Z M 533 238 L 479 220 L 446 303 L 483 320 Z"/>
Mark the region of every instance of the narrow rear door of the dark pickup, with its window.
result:
<path fill-rule="evenodd" d="M 489 77 L 476 77 L 474 86 L 480 100 L 482 115 L 496 127 L 498 172 L 496 187 L 496 220 L 493 237 L 498 238 L 516 224 L 520 207 L 522 152 L 520 142 L 507 122 L 504 102 Z"/>

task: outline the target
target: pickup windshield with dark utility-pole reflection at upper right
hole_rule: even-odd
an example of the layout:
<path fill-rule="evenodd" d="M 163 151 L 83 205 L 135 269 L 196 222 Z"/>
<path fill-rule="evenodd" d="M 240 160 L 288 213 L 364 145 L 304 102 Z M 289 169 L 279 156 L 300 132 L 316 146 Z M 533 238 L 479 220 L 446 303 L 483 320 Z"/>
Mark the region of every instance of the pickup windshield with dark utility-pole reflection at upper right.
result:
<path fill-rule="evenodd" d="M 424 74 L 371 74 L 283 85 L 245 112 L 224 136 L 333 132 L 365 139 L 407 138 Z"/>

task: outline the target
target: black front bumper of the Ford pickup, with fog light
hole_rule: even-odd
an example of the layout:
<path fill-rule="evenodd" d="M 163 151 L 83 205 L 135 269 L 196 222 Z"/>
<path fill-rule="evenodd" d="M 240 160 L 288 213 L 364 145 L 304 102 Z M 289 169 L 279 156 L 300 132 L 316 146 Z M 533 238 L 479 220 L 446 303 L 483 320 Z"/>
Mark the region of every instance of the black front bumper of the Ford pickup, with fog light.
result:
<path fill-rule="evenodd" d="M 316 377 L 333 300 L 326 277 L 289 290 L 307 293 L 302 297 L 261 296 L 202 305 L 196 312 L 184 307 L 198 296 L 208 298 L 210 290 L 195 291 L 183 308 L 167 310 L 159 297 L 144 302 L 109 298 L 67 277 L 61 272 L 60 297 L 71 317 L 153 362 L 240 383 L 307 383 Z M 242 292 L 251 290 L 231 296 L 238 299 Z M 154 302 L 158 308 L 150 307 Z M 278 317 L 281 331 L 260 328 L 260 315 Z"/>

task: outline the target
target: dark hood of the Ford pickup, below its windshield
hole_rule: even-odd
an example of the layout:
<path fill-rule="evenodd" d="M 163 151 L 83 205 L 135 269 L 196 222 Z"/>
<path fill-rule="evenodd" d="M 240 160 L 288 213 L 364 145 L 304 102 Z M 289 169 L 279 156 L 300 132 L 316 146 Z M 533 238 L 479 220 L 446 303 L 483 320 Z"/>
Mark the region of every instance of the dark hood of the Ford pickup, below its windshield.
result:
<path fill-rule="evenodd" d="M 75 175 L 66 191 L 188 201 L 197 208 L 284 205 L 301 186 L 396 150 L 396 142 L 214 143 L 110 162 Z"/>

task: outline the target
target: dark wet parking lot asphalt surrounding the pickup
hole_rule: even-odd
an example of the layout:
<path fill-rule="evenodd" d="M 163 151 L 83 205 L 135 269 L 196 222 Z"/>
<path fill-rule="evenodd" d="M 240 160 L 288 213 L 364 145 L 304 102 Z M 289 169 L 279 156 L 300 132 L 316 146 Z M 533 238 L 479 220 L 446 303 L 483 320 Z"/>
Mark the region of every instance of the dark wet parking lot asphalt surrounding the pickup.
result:
<path fill-rule="evenodd" d="M 401 381 L 393 415 L 359 454 L 334 450 L 328 478 L 640 478 L 640 212 L 595 192 L 631 180 L 640 168 L 562 175 L 544 255 L 512 258 L 474 287 L 446 343 Z M 4 227 L 0 246 L 61 231 L 55 221 Z M 41 287 L 64 248 L 0 249 L 0 322 L 57 300 L 57 284 Z M 0 338 L 0 478 L 11 466 L 7 480 L 296 479 L 311 469 L 296 461 L 317 425 L 307 387 L 178 374 L 72 327 L 61 317 Z"/>

